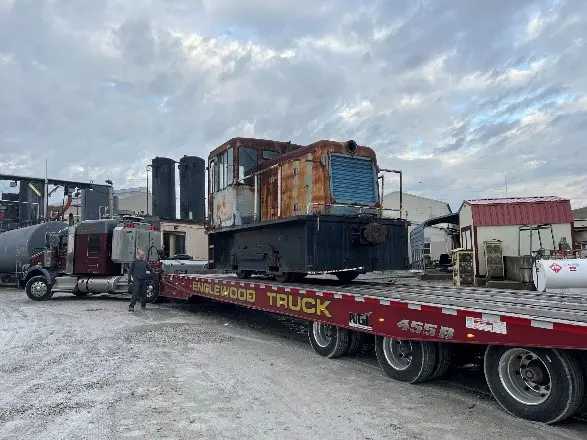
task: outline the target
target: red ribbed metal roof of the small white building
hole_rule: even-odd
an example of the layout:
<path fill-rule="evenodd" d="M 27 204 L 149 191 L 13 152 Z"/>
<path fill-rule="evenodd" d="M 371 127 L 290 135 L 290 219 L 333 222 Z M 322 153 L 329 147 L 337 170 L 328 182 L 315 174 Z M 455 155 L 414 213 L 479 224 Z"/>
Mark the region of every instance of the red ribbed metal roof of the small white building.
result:
<path fill-rule="evenodd" d="M 571 201 L 561 197 L 511 197 L 465 200 L 475 226 L 573 223 Z M 462 209 L 462 206 L 461 206 Z"/>

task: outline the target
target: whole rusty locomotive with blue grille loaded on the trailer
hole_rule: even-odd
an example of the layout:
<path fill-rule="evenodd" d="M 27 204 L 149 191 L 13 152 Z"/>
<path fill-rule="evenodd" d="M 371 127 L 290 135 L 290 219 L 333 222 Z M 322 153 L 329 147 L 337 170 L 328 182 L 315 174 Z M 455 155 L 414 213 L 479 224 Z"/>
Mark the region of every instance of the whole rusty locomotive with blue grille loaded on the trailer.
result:
<path fill-rule="evenodd" d="M 408 222 L 383 209 L 380 173 L 352 140 L 231 139 L 208 157 L 209 267 L 281 282 L 405 269 Z"/>

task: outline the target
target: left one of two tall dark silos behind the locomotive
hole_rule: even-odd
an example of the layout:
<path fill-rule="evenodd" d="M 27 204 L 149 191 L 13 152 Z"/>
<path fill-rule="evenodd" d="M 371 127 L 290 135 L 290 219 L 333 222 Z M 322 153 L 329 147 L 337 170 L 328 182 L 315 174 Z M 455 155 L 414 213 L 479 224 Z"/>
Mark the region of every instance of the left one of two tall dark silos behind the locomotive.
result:
<path fill-rule="evenodd" d="M 175 219 L 175 161 L 168 157 L 156 157 L 151 161 L 153 180 L 153 215 Z"/>

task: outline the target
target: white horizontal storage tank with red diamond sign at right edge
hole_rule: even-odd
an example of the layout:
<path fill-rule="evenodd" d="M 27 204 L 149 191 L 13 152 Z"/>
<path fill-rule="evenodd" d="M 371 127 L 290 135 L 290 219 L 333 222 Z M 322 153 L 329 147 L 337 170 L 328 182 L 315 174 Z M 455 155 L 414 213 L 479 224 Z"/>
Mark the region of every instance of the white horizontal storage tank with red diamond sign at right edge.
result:
<path fill-rule="evenodd" d="M 538 260 L 533 268 L 534 286 L 539 292 L 547 289 L 586 289 L 587 260 Z"/>

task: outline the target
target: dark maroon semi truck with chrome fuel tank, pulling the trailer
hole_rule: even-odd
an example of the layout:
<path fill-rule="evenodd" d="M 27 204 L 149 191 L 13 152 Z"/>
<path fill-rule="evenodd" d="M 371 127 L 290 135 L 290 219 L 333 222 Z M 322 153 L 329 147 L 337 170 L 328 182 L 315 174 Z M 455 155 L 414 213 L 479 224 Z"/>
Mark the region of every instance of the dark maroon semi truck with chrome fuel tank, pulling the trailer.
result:
<path fill-rule="evenodd" d="M 62 225 L 46 233 L 44 249 L 22 269 L 19 286 L 34 301 L 48 300 L 55 292 L 76 296 L 130 293 L 128 268 L 138 249 L 160 267 L 161 233 L 139 217 Z M 148 275 L 146 285 L 147 301 L 154 302 L 159 296 L 157 273 Z"/>

